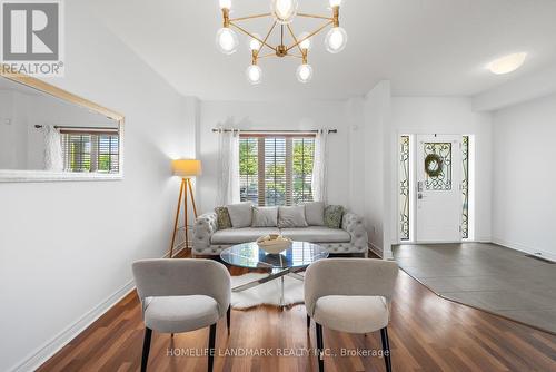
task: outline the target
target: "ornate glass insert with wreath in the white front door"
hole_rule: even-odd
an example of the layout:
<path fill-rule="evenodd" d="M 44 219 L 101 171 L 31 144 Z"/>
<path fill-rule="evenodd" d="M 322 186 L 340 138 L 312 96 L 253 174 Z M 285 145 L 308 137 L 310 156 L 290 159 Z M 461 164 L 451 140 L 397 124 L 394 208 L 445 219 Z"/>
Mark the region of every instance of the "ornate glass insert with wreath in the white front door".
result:
<path fill-rule="evenodd" d="M 425 143 L 425 189 L 451 190 L 451 144 Z"/>

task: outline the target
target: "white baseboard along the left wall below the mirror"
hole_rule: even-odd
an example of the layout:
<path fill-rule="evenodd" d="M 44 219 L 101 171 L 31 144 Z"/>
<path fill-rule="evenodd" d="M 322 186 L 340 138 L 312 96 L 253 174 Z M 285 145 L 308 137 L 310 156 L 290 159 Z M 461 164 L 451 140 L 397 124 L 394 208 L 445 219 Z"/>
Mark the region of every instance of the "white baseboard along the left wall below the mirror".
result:
<path fill-rule="evenodd" d="M 185 247 L 178 249 L 175 255 L 185 249 Z M 169 252 L 165 254 L 163 257 L 169 256 Z M 105 315 L 112 306 L 120 302 L 125 296 L 127 296 L 131 291 L 136 288 L 133 281 L 129 281 L 121 288 L 116 291 L 113 294 L 108 296 L 100 304 L 95 306 L 92 310 L 82 315 L 77 322 L 69 325 L 66 330 L 58 333 L 51 340 L 47 341 L 42 346 L 31 352 L 24 361 L 20 364 L 13 366 L 11 372 L 29 372 L 34 371 L 41 366 L 46 361 L 48 361 L 52 355 L 59 352 L 63 346 L 66 346 L 71 340 L 77 337 L 81 332 L 83 332 L 89 325 L 97 321 L 100 316 Z"/>

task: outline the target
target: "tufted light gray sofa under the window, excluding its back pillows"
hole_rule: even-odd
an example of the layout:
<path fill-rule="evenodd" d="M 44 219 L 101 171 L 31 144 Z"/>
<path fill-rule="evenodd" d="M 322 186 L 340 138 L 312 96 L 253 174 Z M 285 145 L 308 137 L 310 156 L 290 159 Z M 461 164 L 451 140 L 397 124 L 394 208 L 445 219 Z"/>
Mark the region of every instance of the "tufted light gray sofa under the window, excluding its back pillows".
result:
<path fill-rule="evenodd" d="M 244 227 L 218 229 L 216 213 L 197 218 L 193 226 L 193 255 L 219 255 L 222 249 L 240 243 L 255 242 L 268 234 L 281 234 L 292 241 L 319 244 L 330 253 L 360 253 L 367 257 L 367 232 L 363 218 L 346 213 L 341 228 L 308 226 L 297 228 Z"/>

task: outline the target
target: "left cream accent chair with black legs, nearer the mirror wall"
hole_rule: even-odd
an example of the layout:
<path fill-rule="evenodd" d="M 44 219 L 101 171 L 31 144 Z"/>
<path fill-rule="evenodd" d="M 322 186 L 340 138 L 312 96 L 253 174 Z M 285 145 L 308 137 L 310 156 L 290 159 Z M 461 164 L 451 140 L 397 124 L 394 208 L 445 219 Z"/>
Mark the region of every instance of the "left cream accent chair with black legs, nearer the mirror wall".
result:
<path fill-rule="evenodd" d="M 181 333 L 210 326 L 208 371 L 212 371 L 216 324 L 225 314 L 230 332 L 230 274 L 211 260 L 141 260 L 132 265 L 142 305 L 147 371 L 152 331 Z"/>

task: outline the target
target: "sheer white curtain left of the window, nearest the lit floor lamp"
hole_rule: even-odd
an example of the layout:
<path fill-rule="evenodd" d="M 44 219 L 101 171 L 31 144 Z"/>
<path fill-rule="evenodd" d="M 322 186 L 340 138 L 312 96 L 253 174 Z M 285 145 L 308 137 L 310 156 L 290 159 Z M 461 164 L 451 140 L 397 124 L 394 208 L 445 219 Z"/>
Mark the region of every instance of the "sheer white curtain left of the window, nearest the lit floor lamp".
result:
<path fill-rule="evenodd" d="M 218 205 L 239 203 L 239 130 L 218 133 Z"/>

